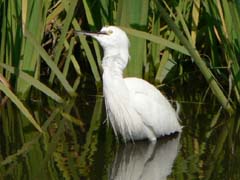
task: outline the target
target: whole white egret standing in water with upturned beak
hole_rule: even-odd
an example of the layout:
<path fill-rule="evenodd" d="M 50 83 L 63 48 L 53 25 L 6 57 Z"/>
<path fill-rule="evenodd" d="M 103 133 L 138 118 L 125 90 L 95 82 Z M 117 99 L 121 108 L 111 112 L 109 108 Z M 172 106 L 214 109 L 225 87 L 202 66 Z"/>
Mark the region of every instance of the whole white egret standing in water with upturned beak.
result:
<path fill-rule="evenodd" d="M 178 114 L 153 85 L 139 78 L 123 78 L 129 59 L 129 40 L 118 27 L 79 32 L 95 38 L 104 50 L 103 95 L 107 119 L 125 141 L 149 139 L 180 132 Z"/>

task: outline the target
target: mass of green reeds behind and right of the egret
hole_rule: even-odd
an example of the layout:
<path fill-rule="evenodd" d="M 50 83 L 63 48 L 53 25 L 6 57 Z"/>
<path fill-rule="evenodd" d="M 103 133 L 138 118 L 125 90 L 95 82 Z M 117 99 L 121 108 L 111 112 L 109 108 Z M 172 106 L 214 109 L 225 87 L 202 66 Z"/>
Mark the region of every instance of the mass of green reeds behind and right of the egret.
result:
<path fill-rule="evenodd" d="M 151 74 L 159 84 L 166 82 L 171 70 L 181 66 L 183 59 L 189 63 L 194 61 L 219 103 L 228 112 L 233 112 L 236 100 L 239 103 L 237 1 L 179 1 L 175 4 L 163 1 L 161 6 L 154 0 L 141 1 L 137 5 L 120 1 L 110 6 L 110 2 L 104 2 L 92 7 L 88 2 L 86 14 L 94 17 L 97 12 L 100 16 L 98 20 L 87 20 L 91 25 L 96 22 L 122 25 L 129 34 L 131 59 L 125 75 L 148 78 Z M 97 11 L 99 6 L 104 11 Z M 229 10 L 231 7 L 233 11 Z M 148 18 L 141 17 L 139 10 Z M 133 36 L 137 38 L 136 43 Z M 95 50 L 99 51 L 99 47 Z"/>

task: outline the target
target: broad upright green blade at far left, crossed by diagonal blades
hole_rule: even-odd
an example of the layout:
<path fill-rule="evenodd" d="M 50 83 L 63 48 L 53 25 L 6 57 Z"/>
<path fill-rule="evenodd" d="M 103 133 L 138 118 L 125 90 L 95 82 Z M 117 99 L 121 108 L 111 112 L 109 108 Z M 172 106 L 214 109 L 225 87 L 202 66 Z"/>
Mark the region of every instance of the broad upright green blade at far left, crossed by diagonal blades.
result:
<path fill-rule="evenodd" d="M 31 32 L 35 37 L 37 43 L 41 43 L 42 36 L 44 33 L 44 22 L 47 15 L 47 9 L 49 8 L 49 1 L 22 1 L 22 32 L 25 33 L 25 28 Z M 18 27 L 19 29 L 19 27 Z M 20 40 L 20 39 L 19 39 Z M 21 46 L 21 57 L 20 62 L 18 58 L 15 57 L 15 64 L 19 65 L 22 71 L 28 72 L 33 75 L 35 72 L 36 63 L 39 60 L 39 54 L 35 51 L 31 42 L 28 39 L 24 39 L 21 36 L 20 41 L 16 41 L 16 44 Z M 20 63 L 19 63 L 20 62 Z M 17 93 L 21 98 L 26 98 L 28 91 L 30 90 L 30 84 L 18 79 L 17 81 Z"/>

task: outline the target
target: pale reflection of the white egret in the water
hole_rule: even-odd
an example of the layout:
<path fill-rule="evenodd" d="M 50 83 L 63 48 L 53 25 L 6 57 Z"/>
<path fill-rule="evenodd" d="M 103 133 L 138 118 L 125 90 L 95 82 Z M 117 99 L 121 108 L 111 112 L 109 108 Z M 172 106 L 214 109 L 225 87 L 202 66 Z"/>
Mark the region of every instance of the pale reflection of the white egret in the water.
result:
<path fill-rule="evenodd" d="M 139 141 L 123 145 L 115 156 L 109 179 L 167 179 L 178 153 L 179 139 L 177 134 L 156 143 Z"/>

